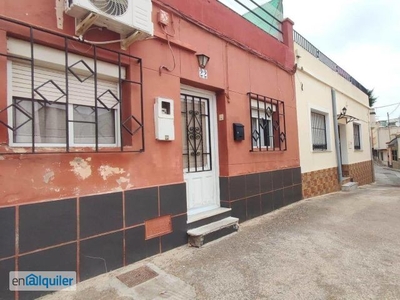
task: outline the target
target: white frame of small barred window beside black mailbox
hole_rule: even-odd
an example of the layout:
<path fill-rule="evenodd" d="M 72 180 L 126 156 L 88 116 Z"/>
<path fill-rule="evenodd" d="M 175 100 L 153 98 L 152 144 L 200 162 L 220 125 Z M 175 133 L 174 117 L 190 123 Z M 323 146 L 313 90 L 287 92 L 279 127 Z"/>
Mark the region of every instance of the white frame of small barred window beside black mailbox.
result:
<path fill-rule="evenodd" d="M 257 102 L 259 104 L 258 106 L 257 106 Z M 271 116 L 266 115 L 266 113 L 265 113 L 266 109 L 264 109 L 264 103 L 266 103 L 266 105 L 265 105 L 266 108 L 272 106 L 272 111 L 273 112 L 276 111 L 276 105 L 275 104 L 271 104 L 271 103 L 267 103 L 267 102 L 264 102 L 264 101 L 252 99 L 251 100 L 251 120 L 250 120 L 251 124 L 250 125 L 251 125 L 251 128 L 254 129 L 253 120 L 255 120 L 256 128 L 260 128 L 259 127 L 260 119 L 258 117 L 259 116 L 260 117 L 261 116 L 266 116 L 267 117 L 266 120 L 269 121 L 269 125 L 268 125 L 269 135 L 268 136 L 270 137 L 270 139 L 269 139 L 269 145 L 267 145 L 267 146 L 261 145 L 261 149 L 274 149 L 274 132 L 273 132 L 273 128 L 272 128 L 272 115 Z M 259 132 L 259 135 L 260 135 L 259 139 L 260 139 L 260 142 L 261 142 L 262 141 L 261 140 L 261 132 Z M 251 132 L 251 143 L 252 143 L 253 148 L 260 148 L 259 142 L 255 141 L 253 139 L 253 132 Z M 264 140 L 264 143 L 265 143 L 265 140 Z"/>

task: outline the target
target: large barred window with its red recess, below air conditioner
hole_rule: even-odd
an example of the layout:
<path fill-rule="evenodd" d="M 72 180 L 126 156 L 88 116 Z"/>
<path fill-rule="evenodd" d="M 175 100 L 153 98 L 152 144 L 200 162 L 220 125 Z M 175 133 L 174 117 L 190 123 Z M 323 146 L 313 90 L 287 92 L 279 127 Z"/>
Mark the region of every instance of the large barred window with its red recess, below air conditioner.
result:
<path fill-rule="evenodd" d="M 0 154 L 143 152 L 142 60 L 76 41 L 23 22 L 25 40 L 9 37 L 7 99 L 0 101 L 0 126 L 8 146 Z M 14 27 L 13 27 L 14 28 Z M 57 48 L 41 45 L 48 36 Z M 128 75 L 129 72 L 129 75 Z"/>

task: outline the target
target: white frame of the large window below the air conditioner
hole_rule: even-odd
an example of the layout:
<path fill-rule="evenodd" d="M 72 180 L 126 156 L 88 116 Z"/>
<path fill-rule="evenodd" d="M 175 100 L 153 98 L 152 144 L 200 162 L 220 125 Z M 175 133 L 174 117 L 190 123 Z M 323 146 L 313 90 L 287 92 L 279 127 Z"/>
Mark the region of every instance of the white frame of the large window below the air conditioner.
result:
<path fill-rule="evenodd" d="M 54 50 L 57 51 L 57 50 Z M 12 61 L 9 60 L 7 62 L 7 103 L 8 105 L 11 105 L 14 103 L 14 96 L 13 96 L 13 86 L 12 86 Z M 119 98 L 119 84 L 115 83 L 117 85 L 116 90 L 117 90 L 117 97 Z M 16 98 L 21 98 L 18 96 L 15 96 Z M 26 98 L 24 98 L 26 99 Z M 30 99 L 26 99 L 30 100 Z M 40 100 L 39 100 L 40 101 Z M 81 106 L 88 106 L 84 104 L 76 104 L 76 103 L 69 103 L 68 104 L 68 115 L 70 120 L 73 120 L 73 106 L 74 105 L 81 105 Z M 90 106 L 88 106 L 90 107 Z M 94 106 L 93 106 L 94 107 Z M 99 108 L 102 108 L 102 106 L 99 106 Z M 98 147 L 100 148 L 116 148 L 120 147 L 121 145 L 121 120 L 120 120 L 120 105 L 117 105 L 114 110 L 114 133 L 115 133 L 115 143 L 112 144 L 98 144 Z M 14 124 L 14 114 L 13 114 L 13 109 L 8 109 L 8 124 L 12 126 Z M 74 142 L 74 122 L 68 122 L 68 130 L 69 130 L 69 136 L 68 136 L 68 143 L 70 147 L 95 147 L 96 144 L 93 143 L 85 143 L 85 144 L 77 144 Z M 32 143 L 18 143 L 14 141 L 14 132 L 11 129 L 8 129 L 8 137 L 9 137 L 9 146 L 10 147 L 32 147 Z M 60 148 L 60 147 L 66 147 L 66 143 L 35 143 L 35 147 L 39 148 Z"/>

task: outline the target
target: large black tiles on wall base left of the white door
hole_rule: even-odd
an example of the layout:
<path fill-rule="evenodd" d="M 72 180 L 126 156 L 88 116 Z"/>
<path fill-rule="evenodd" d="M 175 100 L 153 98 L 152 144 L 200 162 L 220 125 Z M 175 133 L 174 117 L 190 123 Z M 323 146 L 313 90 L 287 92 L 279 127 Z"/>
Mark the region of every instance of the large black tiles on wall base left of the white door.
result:
<path fill-rule="evenodd" d="M 184 245 L 186 212 L 184 183 L 0 208 L 0 299 L 17 296 L 10 271 L 76 271 L 83 281 Z M 168 215 L 172 232 L 146 240 L 145 221 Z"/>

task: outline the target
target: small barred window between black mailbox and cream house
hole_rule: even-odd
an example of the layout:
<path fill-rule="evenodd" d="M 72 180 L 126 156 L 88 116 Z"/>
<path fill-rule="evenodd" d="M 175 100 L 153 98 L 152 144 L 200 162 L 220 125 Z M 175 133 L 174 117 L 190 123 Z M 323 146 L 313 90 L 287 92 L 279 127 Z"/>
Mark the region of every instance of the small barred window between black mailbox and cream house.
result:
<path fill-rule="evenodd" d="M 284 102 L 248 93 L 250 104 L 250 151 L 285 151 L 286 122 Z"/>

